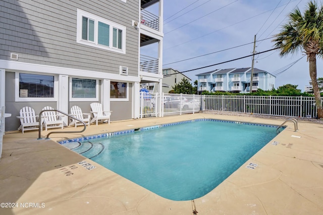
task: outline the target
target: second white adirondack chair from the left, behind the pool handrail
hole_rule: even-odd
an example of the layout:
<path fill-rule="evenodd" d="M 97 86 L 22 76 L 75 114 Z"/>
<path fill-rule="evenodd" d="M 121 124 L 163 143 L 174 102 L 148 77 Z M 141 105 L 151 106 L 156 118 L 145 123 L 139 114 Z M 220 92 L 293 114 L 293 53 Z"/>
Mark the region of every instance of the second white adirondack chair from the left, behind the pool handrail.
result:
<path fill-rule="evenodd" d="M 54 110 L 51 106 L 45 106 L 42 110 Z M 56 111 L 45 111 L 41 114 L 43 118 L 43 125 L 45 126 L 45 130 L 47 128 L 62 128 L 64 126 L 64 122 L 62 118 L 65 115 L 58 115 Z"/>

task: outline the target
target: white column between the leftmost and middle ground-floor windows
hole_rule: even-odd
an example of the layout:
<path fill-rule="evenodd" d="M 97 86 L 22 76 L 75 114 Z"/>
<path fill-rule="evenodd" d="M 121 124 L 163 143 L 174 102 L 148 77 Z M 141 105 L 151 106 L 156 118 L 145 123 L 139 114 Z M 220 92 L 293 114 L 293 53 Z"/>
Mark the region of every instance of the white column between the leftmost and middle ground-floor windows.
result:
<path fill-rule="evenodd" d="M 57 109 L 69 114 L 69 76 L 59 75 L 59 99 Z M 64 124 L 69 124 L 68 117 L 63 117 Z"/>

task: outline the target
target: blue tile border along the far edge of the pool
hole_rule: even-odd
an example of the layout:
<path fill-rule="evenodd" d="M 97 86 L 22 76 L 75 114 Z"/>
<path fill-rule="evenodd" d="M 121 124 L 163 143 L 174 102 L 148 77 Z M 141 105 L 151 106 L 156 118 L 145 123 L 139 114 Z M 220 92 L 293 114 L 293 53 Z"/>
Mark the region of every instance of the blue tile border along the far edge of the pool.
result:
<path fill-rule="evenodd" d="M 172 126 L 172 125 L 179 125 L 179 124 L 184 124 L 184 123 L 192 123 L 192 122 L 195 122 L 195 121 L 196 122 L 198 122 L 198 121 L 213 121 L 213 122 L 235 123 L 235 124 L 243 124 L 243 125 L 273 127 L 273 128 L 278 128 L 279 127 L 277 125 L 246 123 L 246 122 L 229 121 L 229 120 L 196 119 L 196 120 L 188 120 L 188 121 L 182 121 L 182 122 L 176 122 L 176 123 L 168 123 L 168 124 L 161 124 L 161 125 L 143 127 L 143 128 L 140 128 L 140 131 L 149 130 L 149 129 L 155 129 L 155 128 L 161 128 L 161 127 L 166 127 L 166 126 Z M 283 126 L 283 127 L 286 128 L 286 126 Z M 65 143 L 70 143 L 70 142 L 78 142 L 78 141 L 82 141 L 82 140 L 89 140 L 89 139 L 94 139 L 94 138 L 99 138 L 99 137 L 107 137 L 107 136 L 120 135 L 120 134 L 133 133 L 133 132 L 135 132 L 135 129 L 125 130 L 125 131 L 116 131 L 116 132 L 104 133 L 104 134 L 97 134 L 97 135 L 86 136 L 86 137 L 79 137 L 79 138 L 59 141 L 58 143 L 65 144 Z"/>

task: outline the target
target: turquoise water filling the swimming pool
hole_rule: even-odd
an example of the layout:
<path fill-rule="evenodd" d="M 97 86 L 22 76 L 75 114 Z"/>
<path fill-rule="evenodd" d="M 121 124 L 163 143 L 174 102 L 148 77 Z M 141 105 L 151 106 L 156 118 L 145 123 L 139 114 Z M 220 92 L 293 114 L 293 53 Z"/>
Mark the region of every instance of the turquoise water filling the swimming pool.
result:
<path fill-rule="evenodd" d="M 229 177 L 276 129 L 194 121 L 64 145 L 162 197 L 191 200 Z"/>

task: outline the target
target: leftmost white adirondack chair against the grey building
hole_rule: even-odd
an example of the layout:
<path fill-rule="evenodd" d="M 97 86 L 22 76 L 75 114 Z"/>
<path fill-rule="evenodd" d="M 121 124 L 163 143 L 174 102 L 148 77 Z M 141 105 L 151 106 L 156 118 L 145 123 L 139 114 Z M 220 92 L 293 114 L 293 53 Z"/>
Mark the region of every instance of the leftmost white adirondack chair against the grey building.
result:
<path fill-rule="evenodd" d="M 17 118 L 20 119 L 21 125 L 17 129 L 18 131 L 22 130 L 22 133 L 24 133 L 24 131 L 39 129 L 38 115 L 36 116 L 34 109 L 25 106 L 19 113 L 20 116 Z"/>

